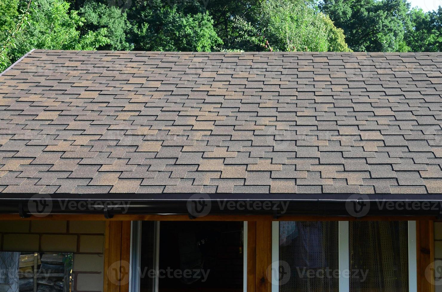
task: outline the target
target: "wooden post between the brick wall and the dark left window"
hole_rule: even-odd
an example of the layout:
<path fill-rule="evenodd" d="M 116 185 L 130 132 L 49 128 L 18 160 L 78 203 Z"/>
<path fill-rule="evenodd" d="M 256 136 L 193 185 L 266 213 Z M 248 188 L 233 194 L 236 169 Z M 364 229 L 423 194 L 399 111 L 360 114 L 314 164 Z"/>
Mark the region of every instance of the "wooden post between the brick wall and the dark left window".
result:
<path fill-rule="evenodd" d="M 129 292 L 130 221 L 107 221 L 103 292 Z"/>

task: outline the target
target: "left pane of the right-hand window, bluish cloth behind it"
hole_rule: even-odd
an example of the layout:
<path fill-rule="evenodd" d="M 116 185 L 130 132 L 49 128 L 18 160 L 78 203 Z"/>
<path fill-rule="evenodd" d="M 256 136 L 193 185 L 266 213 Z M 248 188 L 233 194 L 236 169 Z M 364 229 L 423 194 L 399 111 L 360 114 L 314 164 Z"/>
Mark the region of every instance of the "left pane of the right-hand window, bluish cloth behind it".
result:
<path fill-rule="evenodd" d="M 338 291 L 338 222 L 281 221 L 279 291 Z"/>

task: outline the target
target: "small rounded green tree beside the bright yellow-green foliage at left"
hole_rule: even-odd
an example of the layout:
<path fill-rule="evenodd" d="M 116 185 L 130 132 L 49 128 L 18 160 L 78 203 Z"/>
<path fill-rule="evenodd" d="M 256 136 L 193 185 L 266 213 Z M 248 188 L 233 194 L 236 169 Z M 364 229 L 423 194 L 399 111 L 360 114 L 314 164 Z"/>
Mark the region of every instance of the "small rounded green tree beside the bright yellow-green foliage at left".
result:
<path fill-rule="evenodd" d="M 126 12 L 115 6 L 106 6 L 101 3 L 88 1 L 80 8 L 79 15 L 84 19 L 84 26 L 81 27 L 82 35 L 89 31 L 106 29 L 105 37 L 109 40 L 100 49 L 125 50 L 133 49 L 133 44 L 128 41 L 127 33 L 132 26 L 127 20 Z"/>

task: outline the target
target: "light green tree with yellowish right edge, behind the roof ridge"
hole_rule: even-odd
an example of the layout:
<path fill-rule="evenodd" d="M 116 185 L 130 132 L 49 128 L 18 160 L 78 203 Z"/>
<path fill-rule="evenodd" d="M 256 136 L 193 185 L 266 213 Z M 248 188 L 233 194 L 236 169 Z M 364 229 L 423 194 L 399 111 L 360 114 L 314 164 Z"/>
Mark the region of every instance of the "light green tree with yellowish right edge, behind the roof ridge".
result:
<path fill-rule="evenodd" d="M 271 51 L 348 51 L 342 30 L 309 3 L 266 1 L 260 21 L 252 24 L 237 17 L 240 28 L 236 49 Z"/>

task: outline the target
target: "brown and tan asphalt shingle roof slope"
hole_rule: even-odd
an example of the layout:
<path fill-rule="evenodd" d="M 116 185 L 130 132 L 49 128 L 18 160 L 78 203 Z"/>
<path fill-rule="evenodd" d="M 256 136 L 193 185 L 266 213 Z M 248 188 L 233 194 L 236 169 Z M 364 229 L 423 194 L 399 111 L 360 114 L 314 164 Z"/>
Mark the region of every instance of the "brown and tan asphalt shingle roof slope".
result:
<path fill-rule="evenodd" d="M 0 191 L 441 193 L 442 53 L 34 50 Z"/>

